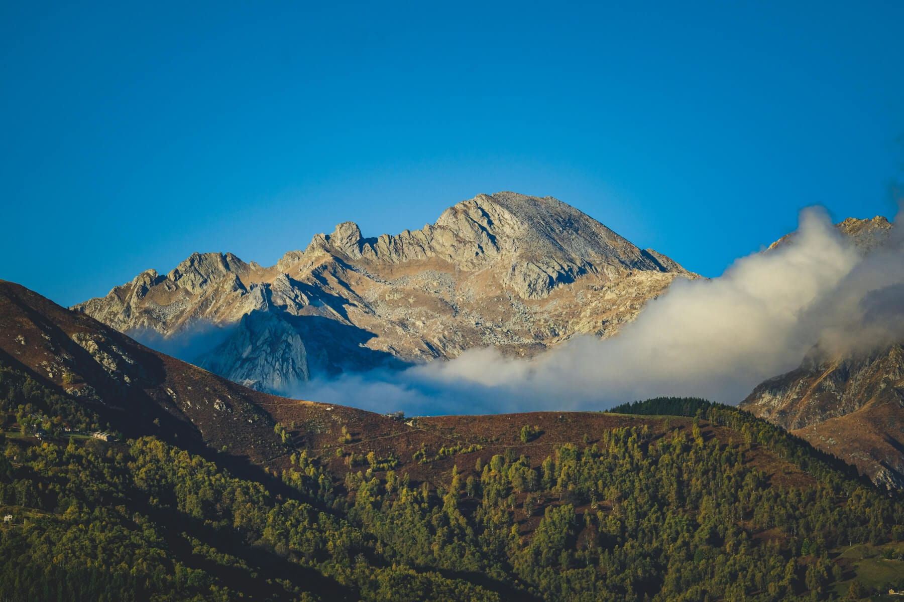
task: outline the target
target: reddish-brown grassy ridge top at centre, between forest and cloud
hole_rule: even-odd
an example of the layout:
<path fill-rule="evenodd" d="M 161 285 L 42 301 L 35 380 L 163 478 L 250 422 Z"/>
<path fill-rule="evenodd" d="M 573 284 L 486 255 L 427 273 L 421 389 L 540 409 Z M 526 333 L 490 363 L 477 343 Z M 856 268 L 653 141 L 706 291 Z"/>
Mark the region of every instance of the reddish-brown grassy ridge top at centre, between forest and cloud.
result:
<path fill-rule="evenodd" d="M 597 442 L 603 431 L 621 427 L 643 427 L 647 425 L 654 436 L 666 431 L 680 429 L 690 437 L 692 419 L 680 417 L 633 416 L 601 412 L 525 412 L 515 414 L 491 414 L 482 416 L 431 416 L 419 417 L 408 424 L 391 421 L 379 416 L 374 420 L 367 412 L 360 412 L 344 406 L 313 406 L 307 402 L 281 403 L 278 407 L 266 405 L 284 424 L 294 421 L 297 442 L 311 449 L 313 455 L 324 458 L 336 477 L 344 477 L 350 470 L 357 472 L 368 468 L 359 464 L 349 468 L 345 457 L 349 454 L 366 456 L 373 452 L 376 458 L 397 458 L 395 468 L 399 475 L 408 474 L 415 482 L 428 481 L 432 485 L 447 485 L 453 467 L 457 467 L 463 478 L 479 477 L 475 470 L 480 458 L 483 464 L 496 454 L 511 450 L 515 457 L 531 458 L 531 465 L 539 467 L 544 458 L 555 453 L 563 443 L 575 443 L 584 447 L 584 436 L 588 444 Z M 324 412 L 324 407 L 331 410 Z M 410 425 L 410 426 L 409 426 Z M 528 442 L 520 438 L 523 426 L 539 427 L 541 434 Z M 352 435 L 352 441 L 341 443 L 342 427 Z M 733 441 L 739 443 L 738 432 L 702 423 L 706 440 L 716 438 L 721 445 Z M 480 449 L 464 451 L 471 446 Z M 450 455 L 440 455 L 442 448 L 456 448 Z M 335 452 L 341 449 L 342 456 Z M 414 459 L 420 449 L 426 449 L 428 463 Z M 757 466 L 777 486 L 811 486 L 814 480 L 786 460 L 778 458 L 767 449 L 755 446 L 746 452 L 749 461 Z M 288 458 L 280 458 L 278 468 L 288 469 Z"/>

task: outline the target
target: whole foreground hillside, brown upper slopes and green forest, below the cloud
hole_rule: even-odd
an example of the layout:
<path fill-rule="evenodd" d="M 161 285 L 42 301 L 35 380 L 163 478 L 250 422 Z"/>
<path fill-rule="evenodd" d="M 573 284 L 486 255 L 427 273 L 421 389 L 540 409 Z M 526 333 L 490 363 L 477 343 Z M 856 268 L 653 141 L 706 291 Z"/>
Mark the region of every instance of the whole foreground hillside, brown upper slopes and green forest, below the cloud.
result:
<path fill-rule="evenodd" d="M 899 496 L 700 399 L 406 421 L 248 389 L 0 281 L 0 405 L 9 599 L 803 600 L 904 584 Z"/>

